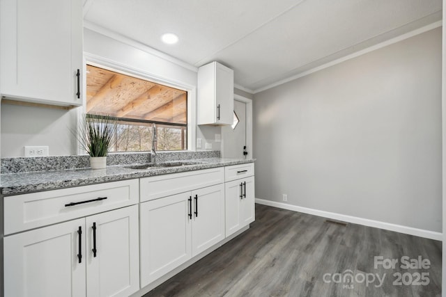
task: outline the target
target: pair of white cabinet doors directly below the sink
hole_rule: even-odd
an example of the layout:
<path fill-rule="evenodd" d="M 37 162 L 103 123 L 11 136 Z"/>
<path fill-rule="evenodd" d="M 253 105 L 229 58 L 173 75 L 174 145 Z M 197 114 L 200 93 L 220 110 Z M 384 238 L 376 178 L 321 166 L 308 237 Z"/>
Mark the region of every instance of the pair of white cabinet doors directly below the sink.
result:
<path fill-rule="evenodd" d="M 224 239 L 224 184 L 140 204 L 141 287 Z"/>

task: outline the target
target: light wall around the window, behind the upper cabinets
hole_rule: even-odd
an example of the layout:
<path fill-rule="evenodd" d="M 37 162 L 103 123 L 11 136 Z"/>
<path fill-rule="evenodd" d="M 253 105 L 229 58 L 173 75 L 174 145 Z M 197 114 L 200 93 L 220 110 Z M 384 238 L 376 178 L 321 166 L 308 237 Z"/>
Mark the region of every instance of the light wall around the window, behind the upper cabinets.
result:
<path fill-rule="evenodd" d="M 153 50 L 144 51 L 144 47 L 130 44 L 84 29 L 84 52 L 89 61 L 120 65 L 123 70 L 192 90 L 191 109 L 196 109 L 197 72 L 194 67 L 178 65 L 164 54 L 157 55 Z M 77 154 L 77 143 L 70 129 L 76 125 L 78 112 L 79 109 L 61 111 L 2 104 L 1 157 L 23 156 L 24 145 L 49 145 L 50 155 Z M 212 143 L 213 150 L 220 150 L 220 143 L 215 143 L 217 133 L 221 133 L 220 127 L 189 129 L 192 138 L 202 138 L 203 147 L 205 142 Z"/>

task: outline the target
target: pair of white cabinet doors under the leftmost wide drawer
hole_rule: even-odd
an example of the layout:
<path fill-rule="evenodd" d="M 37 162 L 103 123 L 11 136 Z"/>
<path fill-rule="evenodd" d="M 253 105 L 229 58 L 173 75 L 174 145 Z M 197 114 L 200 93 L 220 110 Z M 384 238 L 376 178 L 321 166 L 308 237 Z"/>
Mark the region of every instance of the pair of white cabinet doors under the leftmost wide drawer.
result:
<path fill-rule="evenodd" d="M 129 296 L 139 290 L 138 229 L 133 205 L 5 236 L 4 295 Z"/>

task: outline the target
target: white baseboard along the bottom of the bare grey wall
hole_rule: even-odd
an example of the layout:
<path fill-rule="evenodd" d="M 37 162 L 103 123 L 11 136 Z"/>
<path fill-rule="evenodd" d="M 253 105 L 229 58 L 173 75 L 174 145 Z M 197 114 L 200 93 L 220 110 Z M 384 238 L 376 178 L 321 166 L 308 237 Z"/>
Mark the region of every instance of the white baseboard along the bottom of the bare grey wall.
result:
<path fill-rule="evenodd" d="M 407 227 L 403 225 L 397 225 L 392 223 L 380 222 L 378 220 L 369 220 L 368 218 L 358 218 L 357 216 L 346 216 L 345 214 L 336 214 L 330 211 L 322 211 L 318 209 L 310 209 L 307 207 L 298 207 L 296 205 L 286 204 L 282 202 L 275 202 L 270 200 L 264 200 L 256 198 L 256 203 L 268 205 L 271 207 L 278 207 L 281 209 L 288 209 L 291 211 L 298 211 L 304 214 L 312 214 L 314 216 L 322 216 L 324 218 L 332 218 L 334 220 L 343 220 L 344 222 L 360 224 L 368 227 L 376 227 L 384 230 L 390 230 L 394 232 L 400 232 L 404 234 L 410 234 L 415 236 L 424 237 L 427 239 L 435 239 L 443 241 L 443 234 L 440 232 L 433 232 L 429 230 L 422 230 L 413 227 Z"/>

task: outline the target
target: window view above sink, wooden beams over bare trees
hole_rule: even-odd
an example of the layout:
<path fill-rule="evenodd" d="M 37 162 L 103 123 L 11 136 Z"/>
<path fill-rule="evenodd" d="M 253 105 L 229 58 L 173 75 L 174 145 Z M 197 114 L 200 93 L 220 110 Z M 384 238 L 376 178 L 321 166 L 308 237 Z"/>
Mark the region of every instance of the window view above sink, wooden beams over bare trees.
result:
<path fill-rule="evenodd" d="M 187 92 L 153 81 L 86 65 L 86 112 L 118 120 L 114 152 L 187 149 Z"/>

